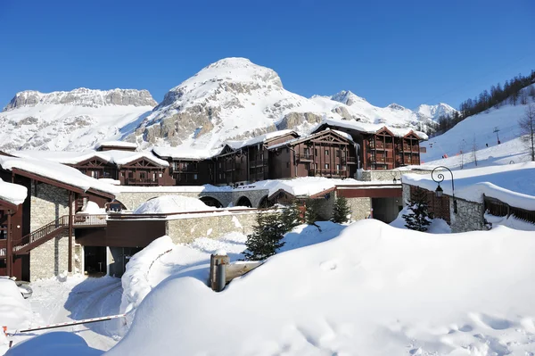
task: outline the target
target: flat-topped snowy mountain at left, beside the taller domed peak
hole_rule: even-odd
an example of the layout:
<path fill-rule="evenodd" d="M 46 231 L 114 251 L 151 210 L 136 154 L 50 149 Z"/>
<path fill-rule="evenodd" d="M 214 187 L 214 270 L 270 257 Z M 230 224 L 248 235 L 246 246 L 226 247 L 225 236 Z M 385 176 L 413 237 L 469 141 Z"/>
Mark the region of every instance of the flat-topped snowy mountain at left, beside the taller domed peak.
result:
<path fill-rule="evenodd" d="M 136 128 L 157 103 L 146 90 L 17 93 L 0 112 L 0 150 L 83 150 Z"/>

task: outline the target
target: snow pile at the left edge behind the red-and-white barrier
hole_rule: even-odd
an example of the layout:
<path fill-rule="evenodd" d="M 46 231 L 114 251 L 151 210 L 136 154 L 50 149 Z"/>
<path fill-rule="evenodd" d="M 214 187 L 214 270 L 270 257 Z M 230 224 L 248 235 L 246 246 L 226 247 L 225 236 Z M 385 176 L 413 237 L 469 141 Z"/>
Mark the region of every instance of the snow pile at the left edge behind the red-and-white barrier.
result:
<path fill-rule="evenodd" d="M 8 331 L 29 327 L 32 312 L 29 302 L 22 298 L 19 287 L 11 279 L 0 277 L 0 327 L 7 327 Z M 0 354 L 4 354 L 9 347 L 9 341 L 0 330 Z"/>

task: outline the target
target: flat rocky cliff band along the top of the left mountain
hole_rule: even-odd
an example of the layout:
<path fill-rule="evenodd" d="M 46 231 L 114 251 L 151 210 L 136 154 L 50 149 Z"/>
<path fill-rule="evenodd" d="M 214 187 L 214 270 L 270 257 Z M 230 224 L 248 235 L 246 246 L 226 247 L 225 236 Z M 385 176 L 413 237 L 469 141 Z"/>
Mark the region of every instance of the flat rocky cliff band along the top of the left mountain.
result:
<path fill-rule="evenodd" d="M 36 90 L 26 90 L 17 93 L 8 103 L 4 112 L 21 108 L 31 107 L 37 104 L 58 104 L 85 107 L 101 106 L 156 106 L 156 101 L 147 90 L 136 89 L 111 89 L 95 90 L 79 87 L 71 91 L 57 91 L 41 93 Z"/>

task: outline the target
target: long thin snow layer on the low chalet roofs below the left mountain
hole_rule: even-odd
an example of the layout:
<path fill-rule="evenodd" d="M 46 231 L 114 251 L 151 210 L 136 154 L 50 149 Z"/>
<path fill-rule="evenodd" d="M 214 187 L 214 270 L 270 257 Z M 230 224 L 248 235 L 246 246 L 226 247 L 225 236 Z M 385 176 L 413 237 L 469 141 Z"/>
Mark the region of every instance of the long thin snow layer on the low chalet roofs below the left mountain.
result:
<path fill-rule="evenodd" d="M 68 152 L 68 151 L 13 151 L 11 153 L 17 157 L 30 158 L 36 160 L 55 161 L 63 164 L 77 164 L 81 161 L 86 161 L 93 157 L 98 157 L 103 161 L 114 163 L 117 165 L 127 164 L 131 161 L 136 161 L 140 158 L 145 158 L 153 161 L 163 167 L 169 167 L 169 162 L 161 160 L 152 152 L 129 152 L 120 150 L 110 151 L 95 151 L 87 150 L 82 152 Z"/>

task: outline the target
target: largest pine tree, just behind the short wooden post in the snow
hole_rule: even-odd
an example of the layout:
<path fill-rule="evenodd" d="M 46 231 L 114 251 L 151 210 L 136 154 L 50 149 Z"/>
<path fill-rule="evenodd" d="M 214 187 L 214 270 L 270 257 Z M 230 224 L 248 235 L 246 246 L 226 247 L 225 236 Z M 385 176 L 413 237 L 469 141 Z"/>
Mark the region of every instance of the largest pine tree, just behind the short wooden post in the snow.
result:
<path fill-rule="evenodd" d="M 257 225 L 253 227 L 252 234 L 247 236 L 243 252 L 245 260 L 262 261 L 276 253 L 284 246 L 284 224 L 278 214 L 257 214 Z"/>

